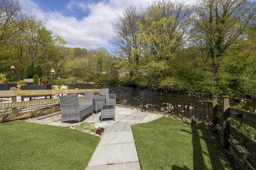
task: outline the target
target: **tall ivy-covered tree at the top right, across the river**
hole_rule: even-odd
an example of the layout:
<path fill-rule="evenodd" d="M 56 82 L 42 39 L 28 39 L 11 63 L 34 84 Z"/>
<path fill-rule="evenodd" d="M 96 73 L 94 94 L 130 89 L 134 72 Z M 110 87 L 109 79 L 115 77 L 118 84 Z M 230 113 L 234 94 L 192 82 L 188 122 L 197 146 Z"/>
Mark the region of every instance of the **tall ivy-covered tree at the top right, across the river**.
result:
<path fill-rule="evenodd" d="M 195 6 L 194 42 L 211 62 L 215 80 L 227 49 L 255 24 L 255 10 L 255 3 L 247 0 L 201 0 Z"/>

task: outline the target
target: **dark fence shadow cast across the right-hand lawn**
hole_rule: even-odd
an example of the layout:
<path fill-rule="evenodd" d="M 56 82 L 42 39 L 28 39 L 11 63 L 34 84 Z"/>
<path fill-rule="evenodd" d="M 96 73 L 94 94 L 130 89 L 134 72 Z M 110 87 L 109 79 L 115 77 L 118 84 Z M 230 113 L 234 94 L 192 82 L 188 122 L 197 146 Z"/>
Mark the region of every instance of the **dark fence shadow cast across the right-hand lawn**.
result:
<path fill-rule="evenodd" d="M 186 124 L 190 124 L 187 122 L 183 122 Z M 225 169 L 223 166 L 223 162 L 221 160 L 225 155 L 221 154 L 220 146 L 217 146 L 217 141 L 214 141 L 214 137 L 212 136 L 209 129 L 205 128 L 204 125 L 196 124 L 192 122 L 191 124 L 191 132 L 186 130 L 181 130 L 183 132 L 187 132 L 192 134 L 192 143 L 193 143 L 193 169 L 208 169 L 209 167 L 205 166 L 204 157 L 209 157 L 212 169 Z M 202 149 L 202 141 L 206 145 L 206 149 L 208 152 L 203 151 Z M 186 169 L 186 167 L 175 167 L 173 169 Z"/>

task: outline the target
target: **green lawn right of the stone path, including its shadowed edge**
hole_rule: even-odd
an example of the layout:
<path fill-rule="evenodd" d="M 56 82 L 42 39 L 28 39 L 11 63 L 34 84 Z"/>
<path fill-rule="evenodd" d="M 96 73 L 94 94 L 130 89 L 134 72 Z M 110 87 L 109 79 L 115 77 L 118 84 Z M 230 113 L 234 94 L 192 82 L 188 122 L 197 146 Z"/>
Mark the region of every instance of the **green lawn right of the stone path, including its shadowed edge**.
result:
<path fill-rule="evenodd" d="M 232 169 L 205 125 L 163 117 L 132 126 L 143 169 Z"/>

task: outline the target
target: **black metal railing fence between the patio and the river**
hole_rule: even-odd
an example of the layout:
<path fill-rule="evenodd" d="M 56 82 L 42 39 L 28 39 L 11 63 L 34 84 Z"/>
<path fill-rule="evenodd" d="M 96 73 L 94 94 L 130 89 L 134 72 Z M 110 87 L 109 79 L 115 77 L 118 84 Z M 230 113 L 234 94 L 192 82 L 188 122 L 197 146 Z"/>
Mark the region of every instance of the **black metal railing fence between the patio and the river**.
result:
<path fill-rule="evenodd" d="M 142 95 L 123 91 L 114 91 L 114 93 L 117 96 L 117 104 L 137 107 L 141 111 L 161 112 L 197 121 L 212 122 L 212 103 L 208 101 Z"/>

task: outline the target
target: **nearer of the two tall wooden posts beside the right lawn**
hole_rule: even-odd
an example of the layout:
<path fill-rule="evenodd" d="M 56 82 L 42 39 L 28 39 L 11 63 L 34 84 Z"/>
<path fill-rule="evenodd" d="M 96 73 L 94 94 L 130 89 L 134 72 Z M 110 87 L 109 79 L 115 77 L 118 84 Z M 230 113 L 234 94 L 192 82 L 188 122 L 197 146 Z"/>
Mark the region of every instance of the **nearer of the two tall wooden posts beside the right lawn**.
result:
<path fill-rule="evenodd" d="M 229 117 L 229 96 L 221 96 L 222 98 L 222 147 L 228 148 L 228 117 Z"/>

